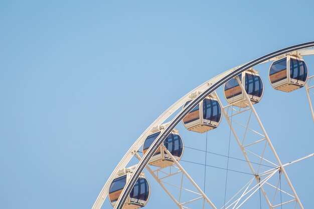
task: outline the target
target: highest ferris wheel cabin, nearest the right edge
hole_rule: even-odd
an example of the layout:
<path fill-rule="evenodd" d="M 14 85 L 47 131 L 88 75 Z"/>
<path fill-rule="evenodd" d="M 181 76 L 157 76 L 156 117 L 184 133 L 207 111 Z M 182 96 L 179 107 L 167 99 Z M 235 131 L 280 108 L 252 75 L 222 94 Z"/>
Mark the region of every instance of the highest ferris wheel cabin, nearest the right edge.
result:
<path fill-rule="evenodd" d="M 290 92 L 303 87 L 307 79 L 307 67 L 303 59 L 288 55 L 274 61 L 269 68 L 271 86 L 280 91 Z"/>

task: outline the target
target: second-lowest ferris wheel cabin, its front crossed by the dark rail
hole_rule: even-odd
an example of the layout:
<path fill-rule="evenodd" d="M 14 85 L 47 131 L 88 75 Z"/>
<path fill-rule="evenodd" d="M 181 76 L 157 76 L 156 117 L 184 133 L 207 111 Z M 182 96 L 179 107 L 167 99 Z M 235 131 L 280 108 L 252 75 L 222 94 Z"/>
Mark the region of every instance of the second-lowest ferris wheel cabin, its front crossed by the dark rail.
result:
<path fill-rule="evenodd" d="M 144 144 L 143 144 L 143 154 L 145 154 L 152 144 L 152 142 L 160 135 L 161 130 L 164 129 L 166 125 L 159 125 L 152 128 L 152 134 L 148 135 Z M 174 129 L 168 137 L 165 139 L 164 146 L 160 146 L 153 156 L 149 159 L 148 164 L 154 165 L 158 167 L 168 167 L 173 165 L 175 162 L 172 160 L 172 157 L 169 156 L 165 150 L 165 148 L 172 154 L 172 156 L 180 161 L 183 151 L 184 145 L 181 136 L 178 133 L 177 129 Z"/>

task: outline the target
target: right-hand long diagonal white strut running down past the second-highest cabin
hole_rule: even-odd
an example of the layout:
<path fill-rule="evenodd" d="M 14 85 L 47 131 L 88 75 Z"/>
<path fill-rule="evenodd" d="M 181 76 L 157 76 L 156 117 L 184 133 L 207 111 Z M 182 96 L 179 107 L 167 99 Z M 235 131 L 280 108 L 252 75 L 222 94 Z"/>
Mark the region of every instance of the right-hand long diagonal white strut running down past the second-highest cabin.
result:
<path fill-rule="evenodd" d="M 301 209 L 304 209 L 304 208 L 303 208 L 303 205 L 302 205 L 302 203 L 301 203 L 301 201 L 300 201 L 300 199 L 299 199 L 299 197 L 298 197 L 297 194 L 296 194 L 296 191 L 294 190 L 294 188 L 293 188 L 293 186 L 292 186 L 292 183 L 291 183 L 291 181 L 290 181 L 290 179 L 289 179 L 289 177 L 288 177 L 288 174 L 287 174 L 287 172 L 285 171 L 285 169 L 284 169 L 284 167 L 283 167 L 283 165 L 282 165 L 282 163 L 281 163 L 281 161 L 280 161 L 280 159 L 279 159 L 279 157 L 278 157 L 278 155 L 277 155 L 277 153 L 276 153 L 276 150 L 275 150 L 275 148 L 273 147 L 273 145 L 272 145 L 272 143 L 271 143 L 271 141 L 270 141 L 270 139 L 269 139 L 269 137 L 268 137 L 268 134 L 267 134 L 266 130 L 265 130 L 265 128 L 264 128 L 264 126 L 263 126 L 261 120 L 259 119 L 259 116 L 258 116 L 258 114 L 257 114 L 257 112 L 256 112 L 256 110 L 255 110 L 255 108 L 253 107 L 253 104 L 252 104 L 252 102 L 251 102 L 249 96 L 247 95 L 247 93 L 246 93 L 246 91 L 245 91 L 245 88 L 244 88 L 243 84 L 241 83 L 241 81 L 240 81 L 240 79 L 238 78 L 238 76 L 236 77 L 236 79 L 237 79 L 237 81 L 238 81 L 238 83 L 239 83 L 239 85 L 240 85 L 240 88 L 241 88 L 241 90 L 242 90 L 242 93 L 244 94 L 245 99 L 247 100 L 249 106 L 251 107 L 251 109 L 252 109 L 252 111 L 253 111 L 253 113 L 254 113 L 256 119 L 257 119 L 257 122 L 258 122 L 259 126 L 261 127 L 261 129 L 262 129 L 262 131 L 263 131 L 263 133 L 264 133 L 264 136 L 265 136 L 265 138 L 266 138 L 266 140 L 267 140 L 267 142 L 268 142 L 268 145 L 269 145 L 271 151 L 272 151 L 273 154 L 275 155 L 275 158 L 276 158 L 276 160 L 277 160 L 277 162 L 278 162 L 278 164 L 279 164 L 279 167 L 280 167 L 280 171 L 284 174 L 284 177 L 286 178 L 286 180 L 287 180 L 287 182 L 288 182 L 288 185 L 289 185 L 289 187 L 290 187 L 290 189 L 291 189 L 291 191 L 292 191 L 292 193 L 293 193 L 293 195 L 294 195 L 294 197 L 295 197 L 296 202 L 298 203 L 298 205 L 300 206 Z"/>

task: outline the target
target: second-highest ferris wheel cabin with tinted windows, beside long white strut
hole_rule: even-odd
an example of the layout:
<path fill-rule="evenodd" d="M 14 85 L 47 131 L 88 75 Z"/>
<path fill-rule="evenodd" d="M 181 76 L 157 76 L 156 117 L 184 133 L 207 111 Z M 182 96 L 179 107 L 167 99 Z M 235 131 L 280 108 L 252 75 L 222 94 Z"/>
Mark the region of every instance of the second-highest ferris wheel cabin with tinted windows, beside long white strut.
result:
<path fill-rule="evenodd" d="M 258 103 L 261 100 L 264 92 L 263 81 L 258 72 L 251 69 L 244 71 L 238 77 L 241 83 L 244 84 L 244 89 L 252 104 Z M 249 106 L 236 78 L 233 78 L 225 83 L 224 94 L 227 102 L 230 105 L 241 108 Z"/>

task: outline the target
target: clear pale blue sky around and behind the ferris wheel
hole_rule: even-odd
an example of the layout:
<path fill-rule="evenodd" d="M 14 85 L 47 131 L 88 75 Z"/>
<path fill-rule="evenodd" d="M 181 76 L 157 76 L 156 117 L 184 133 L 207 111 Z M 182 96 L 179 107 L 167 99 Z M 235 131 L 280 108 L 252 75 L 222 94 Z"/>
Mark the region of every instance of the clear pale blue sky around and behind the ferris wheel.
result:
<path fill-rule="evenodd" d="M 187 92 L 229 68 L 314 41 L 313 7 L 313 1 L 1 1 L 0 208 L 91 208 L 137 137 Z M 314 75 L 314 57 L 306 61 Z M 256 110 L 285 163 L 314 152 L 313 122 L 304 88 L 273 90 L 268 68 L 258 67 L 265 94 Z M 204 149 L 206 135 L 178 129 L 187 146 Z M 209 151 L 227 154 L 226 120 L 208 141 Z M 243 158 L 233 137 L 230 155 Z M 204 153 L 186 149 L 183 159 L 203 163 Z M 226 167 L 226 158 L 207 159 Z M 204 166 L 182 164 L 203 187 Z M 313 165 L 310 158 L 287 167 L 304 208 L 314 208 Z M 225 175 L 207 168 L 206 191 L 218 206 Z M 175 208 L 147 177 L 146 208 Z M 237 179 L 251 178 L 229 177 L 227 198 L 240 189 Z M 108 200 L 103 208 L 111 208 Z"/>

